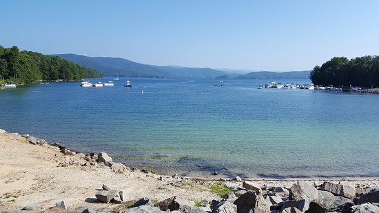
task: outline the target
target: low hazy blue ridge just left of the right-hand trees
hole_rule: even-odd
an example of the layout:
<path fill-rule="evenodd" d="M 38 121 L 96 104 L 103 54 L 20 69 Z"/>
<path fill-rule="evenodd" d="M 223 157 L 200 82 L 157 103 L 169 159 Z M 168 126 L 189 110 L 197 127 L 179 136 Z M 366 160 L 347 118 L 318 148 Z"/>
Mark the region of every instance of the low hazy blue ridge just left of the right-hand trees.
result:
<path fill-rule="evenodd" d="M 291 72 L 250 72 L 243 74 L 238 79 L 309 79 L 311 71 L 291 71 Z"/>

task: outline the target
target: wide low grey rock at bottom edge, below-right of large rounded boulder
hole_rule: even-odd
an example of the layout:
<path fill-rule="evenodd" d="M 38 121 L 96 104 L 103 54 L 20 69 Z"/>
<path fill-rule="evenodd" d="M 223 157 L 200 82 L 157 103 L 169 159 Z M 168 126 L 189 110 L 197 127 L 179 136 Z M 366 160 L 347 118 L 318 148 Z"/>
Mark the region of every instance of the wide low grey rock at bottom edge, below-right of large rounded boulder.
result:
<path fill-rule="evenodd" d="M 354 203 L 343 196 L 330 196 L 323 199 L 316 199 L 309 204 L 308 213 L 325 213 L 347 210 Z"/>

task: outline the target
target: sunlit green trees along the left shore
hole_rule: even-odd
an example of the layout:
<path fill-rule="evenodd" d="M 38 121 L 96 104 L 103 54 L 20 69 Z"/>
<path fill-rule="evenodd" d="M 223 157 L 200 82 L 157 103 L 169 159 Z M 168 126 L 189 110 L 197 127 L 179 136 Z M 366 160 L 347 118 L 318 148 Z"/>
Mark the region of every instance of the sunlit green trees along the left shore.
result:
<path fill-rule="evenodd" d="M 91 68 L 50 57 L 38 52 L 20 51 L 17 46 L 0 45 L 0 80 L 15 83 L 38 81 L 80 81 L 84 78 L 101 78 L 102 74 Z"/>

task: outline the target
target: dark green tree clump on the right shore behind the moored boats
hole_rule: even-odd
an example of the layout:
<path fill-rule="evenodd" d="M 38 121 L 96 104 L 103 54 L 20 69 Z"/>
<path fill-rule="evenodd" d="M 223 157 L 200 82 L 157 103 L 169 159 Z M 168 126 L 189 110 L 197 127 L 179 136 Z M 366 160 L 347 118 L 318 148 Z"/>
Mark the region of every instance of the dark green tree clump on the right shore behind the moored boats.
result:
<path fill-rule="evenodd" d="M 335 87 L 379 87 L 379 56 L 334 57 L 320 66 L 316 65 L 309 75 L 314 84 Z"/>

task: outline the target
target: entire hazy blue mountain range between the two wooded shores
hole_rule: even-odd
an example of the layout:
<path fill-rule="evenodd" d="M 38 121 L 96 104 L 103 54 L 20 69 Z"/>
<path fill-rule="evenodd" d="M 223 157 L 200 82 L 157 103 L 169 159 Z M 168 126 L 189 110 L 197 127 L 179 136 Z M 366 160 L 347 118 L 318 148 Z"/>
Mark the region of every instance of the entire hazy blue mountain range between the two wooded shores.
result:
<path fill-rule="evenodd" d="M 185 79 L 309 79 L 310 71 L 249 72 L 250 70 L 187 68 L 180 66 L 156 66 L 136 63 L 127 59 L 110 57 L 86 57 L 77 54 L 54 54 L 84 67 L 92 68 L 105 77 L 152 77 Z M 247 74 L 244 74 L 249 72 Z"/>

